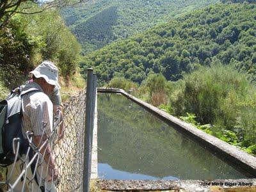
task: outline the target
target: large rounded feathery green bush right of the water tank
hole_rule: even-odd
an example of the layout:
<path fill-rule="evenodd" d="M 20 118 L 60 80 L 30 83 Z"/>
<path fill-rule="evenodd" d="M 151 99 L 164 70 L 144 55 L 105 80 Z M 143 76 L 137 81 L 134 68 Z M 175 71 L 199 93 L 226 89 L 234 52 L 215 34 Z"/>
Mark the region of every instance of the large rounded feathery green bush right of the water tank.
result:
<path fill-rule="evenodd" d="M 186 74 L 184 82 L 184 91 L 177 98 L 184 100 L 184 110 L 195 113 L 201 124 L 219 122 L 226 127 L 234 127 L 239 115 L 238 103 L 252 88 L 245 74 L 218 64 Z"/>

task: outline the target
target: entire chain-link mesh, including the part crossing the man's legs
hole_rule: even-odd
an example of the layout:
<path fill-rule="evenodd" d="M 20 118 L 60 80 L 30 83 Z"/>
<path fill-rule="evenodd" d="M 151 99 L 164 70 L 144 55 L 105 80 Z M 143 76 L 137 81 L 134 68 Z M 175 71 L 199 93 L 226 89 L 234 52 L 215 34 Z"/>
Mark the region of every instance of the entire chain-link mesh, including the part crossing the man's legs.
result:
<path fill-rule="evenodd" d="M 54 129 L 49 137 L 37 138 L 27 132 L 29 148 L 18 153 L 20 141 L 13 140 L 15 162 L 6 168 L 0 184 L 8 191 L 81 191 L 83 188 L 83 153 L 86 93 L 71 97 L 63 107 L 63 118 L 57 111 Z M 59 111 L 60 112 L 60 111 Z M 64 124 L 64 125 L 63 125 Z M 45 125 L 43 124 L 43 130 Z M 65 132 L 63 136 L 63 131 Z M 35 140 L 40 144 L 35 145 Z M 49 153 L 49 148 L 52 154 Z M 55 169 L 51 158 L 55 157 Z M 49 160 L 50 159 L 50 160 Z M 57 174 L 57 170 L 58 174 Z M 57 177 L 58 175 L 58 177 Z M 43 186 L 38 188 L 38 186 Z"/>

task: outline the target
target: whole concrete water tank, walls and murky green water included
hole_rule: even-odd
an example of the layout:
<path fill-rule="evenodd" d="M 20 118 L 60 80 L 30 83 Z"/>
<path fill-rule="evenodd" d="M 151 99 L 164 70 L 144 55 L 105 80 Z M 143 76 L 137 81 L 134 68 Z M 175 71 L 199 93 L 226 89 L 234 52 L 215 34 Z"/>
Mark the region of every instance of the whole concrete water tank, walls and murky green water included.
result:
<path fill-rule="evenodd" d="M 98 88 L 92 178 L 111 191 L 256 191 L 256 157 L 118 89 Z"/>

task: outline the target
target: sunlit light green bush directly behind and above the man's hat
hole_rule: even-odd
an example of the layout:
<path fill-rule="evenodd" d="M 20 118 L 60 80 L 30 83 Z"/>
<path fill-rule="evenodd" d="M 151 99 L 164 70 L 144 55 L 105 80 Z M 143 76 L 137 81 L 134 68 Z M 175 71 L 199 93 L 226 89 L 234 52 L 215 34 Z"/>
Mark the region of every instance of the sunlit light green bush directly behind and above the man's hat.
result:
<path fill-rule="evenodd" d="M 76 72 L 81 47 L 58 11 L 47 10 L 23 19 L 26 23 L 25 30 L 36 42 L 35 60 L 54 60 L 60 67 L 61 76 L 68 81 Z"/>

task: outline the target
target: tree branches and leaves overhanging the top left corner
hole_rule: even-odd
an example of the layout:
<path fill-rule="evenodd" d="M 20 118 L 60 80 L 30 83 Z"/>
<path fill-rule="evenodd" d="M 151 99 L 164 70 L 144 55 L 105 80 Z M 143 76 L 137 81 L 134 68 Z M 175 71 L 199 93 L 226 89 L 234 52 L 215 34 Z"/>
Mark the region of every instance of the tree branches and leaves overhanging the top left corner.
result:
<path fill-rule="evenodd" d="M 40 1 L 40 0 L 1 0 L 0 1 L 0 27 L 3 28 L 8 24 L 8 21 L 15 13 L 21 14 L 35 14 L 44 12 L 49 8 L 62 7 L 82 3 L 86 0 L 54 0 L 54 1 Z M 38 4 L 38 10 L 31 10 L 32 4 Z"/>

